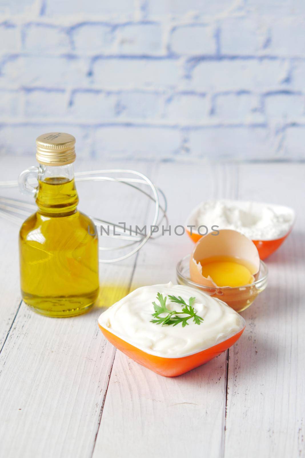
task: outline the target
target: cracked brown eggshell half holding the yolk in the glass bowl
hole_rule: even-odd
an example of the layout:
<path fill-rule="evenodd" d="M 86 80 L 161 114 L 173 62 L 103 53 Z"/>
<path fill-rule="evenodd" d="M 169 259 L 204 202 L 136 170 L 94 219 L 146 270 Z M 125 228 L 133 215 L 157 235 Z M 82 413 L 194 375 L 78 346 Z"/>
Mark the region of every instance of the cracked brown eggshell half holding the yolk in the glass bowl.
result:
<path fill-rule="evenodd" d="M 200 264 L 200 261 L 213 256 L 230 256 L 243 259 L 253 266 L 252 275 L 254 279 L 258 276 L 260 260 L 258 249 L 252 240 L 235 230 L 221 229 L 218 235 L 209 233 L 196 243 L 189 261 L 189 273 L 192 282 L 203 286 L 217 286 L 210 276 L 206 278 L 202 275 Z"/>

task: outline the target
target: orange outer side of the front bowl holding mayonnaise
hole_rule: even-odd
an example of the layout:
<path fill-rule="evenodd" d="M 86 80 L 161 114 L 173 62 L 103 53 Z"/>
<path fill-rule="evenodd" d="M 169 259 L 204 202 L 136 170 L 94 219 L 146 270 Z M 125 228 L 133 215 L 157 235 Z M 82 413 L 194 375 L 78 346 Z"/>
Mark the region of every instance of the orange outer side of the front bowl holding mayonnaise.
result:
<path fill-rule="evenodd" d="M 110 331 L 102 327 L 100 323 L 99 327 L 110 344 L 114 345 L 118 350 L 121 350 L 121 352 L 125 353 L 132 360 L 164 377 L 176 377 L 207 363 L 234 345 L 246 327 L 245 320 L 242 317 L 241 319 L 243 327 L 238 333 L 213 347 L 182 356 L 181 358 L 163 358 L 162 356 L 147 353 L 117 337 L 116 334 L 110 333 Z"/>

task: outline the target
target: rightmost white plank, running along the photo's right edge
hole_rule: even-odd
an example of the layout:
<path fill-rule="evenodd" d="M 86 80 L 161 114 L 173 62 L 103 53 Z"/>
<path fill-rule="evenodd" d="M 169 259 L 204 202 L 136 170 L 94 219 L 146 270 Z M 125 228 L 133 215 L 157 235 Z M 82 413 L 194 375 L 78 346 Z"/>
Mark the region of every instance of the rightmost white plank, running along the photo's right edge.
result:
<path fill-rule="evenodd" d="M 266 262 L 269 284 L 242 313 L 244 338 L 230 349 L 225 457 L 304 457 L 303 164 L 241 165 L 239 198 L 294 207 L 297 221 Z"/>

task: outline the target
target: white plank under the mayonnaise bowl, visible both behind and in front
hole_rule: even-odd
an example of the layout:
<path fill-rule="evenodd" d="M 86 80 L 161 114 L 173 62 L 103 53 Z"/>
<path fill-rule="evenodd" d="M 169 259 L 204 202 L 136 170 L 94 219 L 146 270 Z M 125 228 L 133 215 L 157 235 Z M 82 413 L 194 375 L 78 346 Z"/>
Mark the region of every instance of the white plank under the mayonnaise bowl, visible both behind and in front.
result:
<path fill-rule="evenodd" d="M 162 164 L 154 181 L 168 197 L 169 222 L 184 224 L 203 198 L 234 197 L 237 168 Z M 215 185 L 221 177 L 220 185 Z M 193 247 L 164 235 L 141 251 L 133 284 L 175 283 L 175 266 Z M 217 457 L 223 453 L 226 354 L 183 376 L 166 378 L 116 353 L 93 458 Z"/>

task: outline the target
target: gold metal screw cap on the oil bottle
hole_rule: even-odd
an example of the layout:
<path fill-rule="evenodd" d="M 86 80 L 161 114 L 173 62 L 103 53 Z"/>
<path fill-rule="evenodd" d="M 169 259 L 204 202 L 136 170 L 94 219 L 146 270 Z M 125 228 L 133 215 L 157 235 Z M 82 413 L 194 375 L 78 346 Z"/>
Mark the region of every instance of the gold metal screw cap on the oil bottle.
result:
<path fill-rule="evenodd" d="M 36 159 L 45 165 L 67 165 L 75 161 L 75 137 L 63 132 L 42 134 L 36 139 Z"/>

